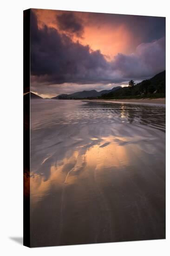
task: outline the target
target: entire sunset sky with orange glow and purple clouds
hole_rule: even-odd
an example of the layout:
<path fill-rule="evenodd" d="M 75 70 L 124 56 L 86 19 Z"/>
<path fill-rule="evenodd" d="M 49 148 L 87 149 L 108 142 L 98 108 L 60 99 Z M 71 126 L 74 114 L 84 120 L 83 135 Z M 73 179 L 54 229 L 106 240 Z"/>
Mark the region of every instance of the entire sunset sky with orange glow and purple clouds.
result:
<path fill-rule="evenodd" d="M 165 70 L 165 18 L 31 9 L 31 91 L 111 89 Z"/>

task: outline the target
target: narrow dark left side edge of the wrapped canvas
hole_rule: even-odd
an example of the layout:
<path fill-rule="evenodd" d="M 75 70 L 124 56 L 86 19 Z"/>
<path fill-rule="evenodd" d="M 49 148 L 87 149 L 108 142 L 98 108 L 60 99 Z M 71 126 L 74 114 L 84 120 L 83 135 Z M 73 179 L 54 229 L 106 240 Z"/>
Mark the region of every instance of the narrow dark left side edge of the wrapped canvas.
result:
<path fill-rule="evenodd" d="M 30 9 L 23 11 L 23 245 L 30 246 Z"/>

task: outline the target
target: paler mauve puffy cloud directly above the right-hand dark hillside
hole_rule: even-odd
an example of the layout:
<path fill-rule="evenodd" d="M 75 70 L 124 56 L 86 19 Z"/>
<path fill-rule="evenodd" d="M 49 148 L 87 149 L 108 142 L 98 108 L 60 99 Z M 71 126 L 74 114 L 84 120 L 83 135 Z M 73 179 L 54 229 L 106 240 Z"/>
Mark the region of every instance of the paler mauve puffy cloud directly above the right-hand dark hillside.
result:
<path fill-rule="evenodd" d="M 165 69 L 165 38 L 140 44 L 130 55 L 118 54 L 112 68 L 119 70 L 125 78 L 146 78 Z"/>

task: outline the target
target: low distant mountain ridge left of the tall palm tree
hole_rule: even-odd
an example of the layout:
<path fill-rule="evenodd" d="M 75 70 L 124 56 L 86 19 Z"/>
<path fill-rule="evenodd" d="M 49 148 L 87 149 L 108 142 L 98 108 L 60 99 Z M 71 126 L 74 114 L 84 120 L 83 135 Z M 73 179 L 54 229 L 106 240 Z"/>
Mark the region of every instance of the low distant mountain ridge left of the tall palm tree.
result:
<path fill-rule="evenodd" d="M 58 96 L 52 97 L 54 100 L 60 100 L 60 99 L 83 99 L 83 98 L 91 98 L 91 97 L 98 97 L 101 96 L 102 94 L 105 93 L 110 93 L 114 92 L 121 87 L 114 87 L 111 90 L 102 90 L 100 92 L 97 92 L 96 90 L 90 90 L 90 91 L 81 91 L 81 92 L 76 92 L 73 94 L 59 94 Z"/>

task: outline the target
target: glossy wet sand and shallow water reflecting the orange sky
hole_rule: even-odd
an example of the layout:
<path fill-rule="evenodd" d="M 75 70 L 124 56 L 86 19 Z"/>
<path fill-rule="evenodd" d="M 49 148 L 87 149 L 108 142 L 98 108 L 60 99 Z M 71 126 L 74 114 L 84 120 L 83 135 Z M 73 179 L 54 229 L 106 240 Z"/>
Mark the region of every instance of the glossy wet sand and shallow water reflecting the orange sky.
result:
<path fill-rule="evenodd" d="M 31 246 L 165 238 L 165 108 L 31 101 Z"/>

